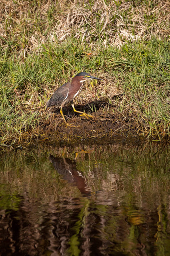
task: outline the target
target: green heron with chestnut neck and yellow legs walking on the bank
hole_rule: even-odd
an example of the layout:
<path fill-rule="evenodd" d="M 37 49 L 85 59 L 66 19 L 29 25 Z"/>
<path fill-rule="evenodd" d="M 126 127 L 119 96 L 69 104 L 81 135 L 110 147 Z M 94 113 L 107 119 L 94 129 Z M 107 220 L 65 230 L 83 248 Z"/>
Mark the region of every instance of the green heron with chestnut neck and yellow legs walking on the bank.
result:
<path fill-rule="evenodd" d="M 64 105 L 68 104 L 69 102 L 71 103 L 71 106 L 72 106 L 74 112 L 80 113 L 81 115 L 85 115 L 86 118 L 88 118 L 87 116 L 92 117 L 91 115 L 88 115 L 84 112 L 77 111 L 74 108 L 74 104 L 73 104 L 73 99 L 76 96 L 78 96 L 78 94 L 82 90 L 83 82 L 86 81 L 87 79 L 102 80 L 102 79 L 99 79 L 95 76 L 91 76 L 86 72 L 78 73 L 76 76 L 73 77 L 71 83 L 67 82 L 67 83 L 62 84 L 53 93 L 51 98 L 46 103 L 46 105 L 47 105 L 46 107 L 50 107 L 50 106 L 53 106 L 53 105 L 60 106 L 60 113 L 61 113 L 65 123 L 66 123 L 66 120 L 65 120 L 65 117 L 62 113 L 62 107 Z"/>

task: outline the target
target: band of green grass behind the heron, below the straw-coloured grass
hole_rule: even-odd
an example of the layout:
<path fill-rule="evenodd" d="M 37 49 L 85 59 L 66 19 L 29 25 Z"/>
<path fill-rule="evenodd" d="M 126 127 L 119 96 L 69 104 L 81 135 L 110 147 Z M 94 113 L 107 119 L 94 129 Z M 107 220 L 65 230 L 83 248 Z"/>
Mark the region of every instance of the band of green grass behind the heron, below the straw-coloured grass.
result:
<path fill-rule="evenodd" d="M 121 113 L 128 119 L 134 118 L 139 133 L 143 127 L 143 135 L 158 139 L 169 135 L 169 51 L 166 41 L 152 39 L 125 44 L 121 49 L 99 48 L 91 58 L 84 54 L 80 44 L 75 48 L 74 43 L 72 39 L 64 46 L 45 46 L 45 51 L 29 55 L 22 63 L 12 57 L 3 59 L 0 85 L 2 144 L 8 140 L 15 142 L 24 137 L 25 132 L 36 130 L 38 123 L 48 118 L 43 106 L 49 92 L 53 92 L 67 76 L 81 70 L 99 77 L 108 75 L 117 81 L 115 85 L 123 95 L 109 103 L 115 116 Z"/>

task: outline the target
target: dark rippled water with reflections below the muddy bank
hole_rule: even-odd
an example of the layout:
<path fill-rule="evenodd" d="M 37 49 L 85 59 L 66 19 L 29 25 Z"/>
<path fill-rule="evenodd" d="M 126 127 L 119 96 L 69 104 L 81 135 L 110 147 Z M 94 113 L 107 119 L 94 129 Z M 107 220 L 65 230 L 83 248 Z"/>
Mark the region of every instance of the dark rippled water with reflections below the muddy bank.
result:
<path fill-rule="evenodd" d="M 39 145 L 0 159 L 1 255 L 169 255 L 167 146 Z"/>

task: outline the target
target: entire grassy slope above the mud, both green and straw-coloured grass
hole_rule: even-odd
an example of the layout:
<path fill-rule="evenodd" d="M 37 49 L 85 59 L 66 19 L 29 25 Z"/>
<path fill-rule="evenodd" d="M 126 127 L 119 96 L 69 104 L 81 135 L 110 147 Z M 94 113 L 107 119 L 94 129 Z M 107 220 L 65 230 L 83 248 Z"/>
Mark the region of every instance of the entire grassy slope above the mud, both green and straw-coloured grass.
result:
<path fill-rule="evenodd" d="M 61 22 L 56 20 L 62 17 L 65 24 L 68 12 L 76 18 L 73 6 L 67 6 L 64 13 L 64 6 L 58 2 L 43 12 L 44 3 L 29 2 L 23 12 L 12 9 L 7 18 L 1 11 L 4 30 L 0 36 L 0 145 L 18 143 L 32 135 L 41 136 L 41 126 L 48 119 L 44 106 L 51 93 L 81 71 L 104 78 L 101 86 L 96 84 L 92 89 L 94 99 L 82 93 L 84 102 L 106 101 L 107 108 L 100 108 L 113 115 L 119 124 L 128 123 L 139 135 L 152 140 L 169 137 L 169 23 L 163 20 L 165 9 L 164 13 L 162 9 L 155 11 L 160 2 L 152 5 L 149 2 L 150 6 L 147 1 L 116 2 L 107 12 L 109 16 L 110 10 L 116 10 L 116 15 L 109 18 L 110 23 L 101 22 L 105 6 L 105 10 L 100 9 L 96 14 L 93 2 L 85 2 L 83 8 L 91 12 L 93 19 L 82 16 L 85 17 L 82 26 L 76 20 L 69 21 L 65 28 L 68 33 L 61 41 L 55 30 Z M 107 1 L 105 4 L 109 5 Z M 19 6 L 17 2 L 12 5 Z M 137 13 L 138 9 L 142 15 Z M 132 22 L 135 17 L 136 22 Z M 144 19 L 146 28 L 141 38 L 134 40 L 121 33 L 120 29 L 124 29 L 131 36 L 137 35 L 140 18 Z M 121 20 L 123 25 L 119 29 L 117 24 Z M 90 37 L 88 32 L 92 27 L 87 24 L 95 27 Z M 158 26 L 159 34 L 152 35 L 151 31 L 157 31 Z M 88 32 L 84 34 L 82 30 Z M 119 92 L 117 97 L 106 93 L 112 88 Z M 85 89 L 89 90 L 87 86 Z M 81 104 L 82 97 L 75 103 Z M 91 104 L 90 108 L 97 111 L 96 105 Z"/>

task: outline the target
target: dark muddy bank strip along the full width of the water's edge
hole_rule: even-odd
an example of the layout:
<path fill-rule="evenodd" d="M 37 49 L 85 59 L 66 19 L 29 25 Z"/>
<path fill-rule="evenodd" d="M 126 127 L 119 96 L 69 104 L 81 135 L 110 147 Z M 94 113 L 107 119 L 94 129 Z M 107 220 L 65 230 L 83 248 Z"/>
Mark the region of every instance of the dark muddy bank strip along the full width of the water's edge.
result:
<path fill-rule="evenodd" d="M 83 111 L 81 108 L 79 110 Z M 117 140 L 134 145 L 146 140 L 169 143 L 169 137 L 163 136 L 163 134 L 161 140 L 156 136 L 156 132 L 154 132 L 154 136 L 148 136 L 144 120 L 137 121 L 134 113 L 133 115 L 127 112 L 116 112 L 115 114 L 111 110 L 99 109 L 95 113 L 86 111 L 93 116 L 87 119 L 85 116 L 73 113 L 69 107 L 65 108 L 63 112 L 68 125 L 64 123 L 59 110 L 54 108 L 52 111 L 46 112 L 46 119 L 43 115 L 41 122 L 34 129 L 22 133 L 22 137 L 14 143 L 2 144 L 2 148 L 20 149 L 22 146 L 27 147 L 37 143 L 61 144 L 62 146 L 77 145 L 82 142 L 83 144 L 84 142 L 107 144 Z"/>

